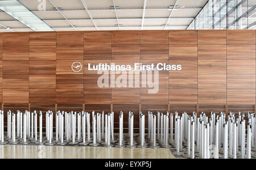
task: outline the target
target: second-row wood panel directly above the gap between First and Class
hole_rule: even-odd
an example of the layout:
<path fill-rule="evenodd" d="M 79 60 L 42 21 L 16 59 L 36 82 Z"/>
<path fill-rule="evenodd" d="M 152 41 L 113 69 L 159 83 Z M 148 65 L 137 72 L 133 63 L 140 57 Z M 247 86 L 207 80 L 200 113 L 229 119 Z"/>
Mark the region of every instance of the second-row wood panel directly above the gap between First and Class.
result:
<path fill-rule="evenodd" d="M 141 59 L 168 59 L 168 45 L 141 45 Z"/>

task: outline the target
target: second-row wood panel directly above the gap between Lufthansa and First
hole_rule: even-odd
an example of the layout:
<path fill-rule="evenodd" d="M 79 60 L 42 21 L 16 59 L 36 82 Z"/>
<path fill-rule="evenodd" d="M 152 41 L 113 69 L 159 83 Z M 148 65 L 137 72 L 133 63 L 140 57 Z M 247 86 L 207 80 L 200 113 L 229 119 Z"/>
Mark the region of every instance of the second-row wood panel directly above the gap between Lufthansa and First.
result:
<path fill-rule="evenodd" d="M 139 59 L 139 45 L 113 45 L 113 59 Z"/>

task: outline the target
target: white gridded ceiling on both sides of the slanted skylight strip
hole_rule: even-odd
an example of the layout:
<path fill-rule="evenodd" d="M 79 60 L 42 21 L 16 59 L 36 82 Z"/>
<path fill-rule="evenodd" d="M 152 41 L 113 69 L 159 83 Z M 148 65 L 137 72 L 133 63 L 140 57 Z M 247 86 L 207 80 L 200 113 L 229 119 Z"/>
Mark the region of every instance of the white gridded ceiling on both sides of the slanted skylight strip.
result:
<path fill-rule="evenodd" d="M 186 29 L 207 0 L 22 0 L 18 2 L 42 19 L 53 31 L 92 31 Z M 35 31 L 35 29 L 2 10 L 0 32 L 10 31 Z"/>

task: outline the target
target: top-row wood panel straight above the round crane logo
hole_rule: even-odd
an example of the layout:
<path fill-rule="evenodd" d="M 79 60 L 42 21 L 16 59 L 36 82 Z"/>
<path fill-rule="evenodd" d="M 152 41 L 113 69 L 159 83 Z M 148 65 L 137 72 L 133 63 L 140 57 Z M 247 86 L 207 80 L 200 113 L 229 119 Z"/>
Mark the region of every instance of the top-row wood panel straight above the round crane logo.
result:
<path fill-rule="evenodd" d="M 84 32 L 57 32 L 57 45 L 84 45 Z"/>

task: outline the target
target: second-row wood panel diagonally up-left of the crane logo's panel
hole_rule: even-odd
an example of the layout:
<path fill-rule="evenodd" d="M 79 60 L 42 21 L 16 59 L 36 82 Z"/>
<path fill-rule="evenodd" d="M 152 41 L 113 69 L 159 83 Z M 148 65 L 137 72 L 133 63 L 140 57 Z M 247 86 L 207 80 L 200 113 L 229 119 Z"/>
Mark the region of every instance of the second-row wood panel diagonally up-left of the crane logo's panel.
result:
<path fill-rule="evenodd" d="M 56 59 L 56 46 L 30 46 L 30 59 Z"/>

